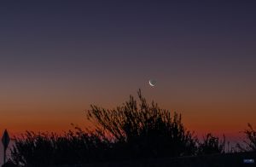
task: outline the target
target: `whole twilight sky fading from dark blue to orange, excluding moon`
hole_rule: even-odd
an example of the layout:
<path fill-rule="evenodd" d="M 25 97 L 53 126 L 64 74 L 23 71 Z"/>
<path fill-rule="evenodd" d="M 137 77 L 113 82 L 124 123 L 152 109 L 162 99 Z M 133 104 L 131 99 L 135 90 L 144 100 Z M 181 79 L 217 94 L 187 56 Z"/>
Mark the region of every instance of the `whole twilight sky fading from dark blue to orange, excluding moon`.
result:
<path fill-rule="evenodd" d="M 256 125 L 256 3 L 179 2 L 1 2 L 0 130 L 85 126 L 139 88 L 198 134 Z"/>

